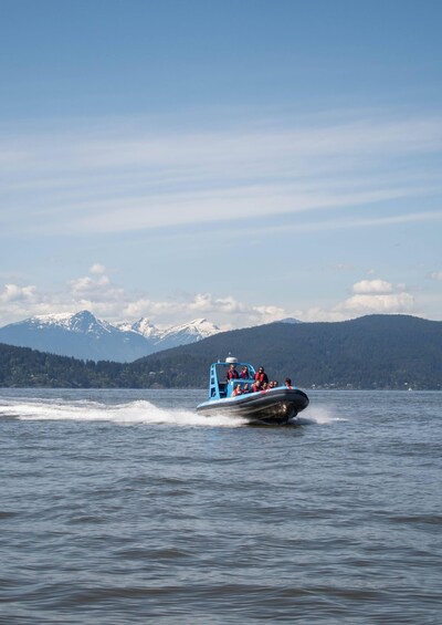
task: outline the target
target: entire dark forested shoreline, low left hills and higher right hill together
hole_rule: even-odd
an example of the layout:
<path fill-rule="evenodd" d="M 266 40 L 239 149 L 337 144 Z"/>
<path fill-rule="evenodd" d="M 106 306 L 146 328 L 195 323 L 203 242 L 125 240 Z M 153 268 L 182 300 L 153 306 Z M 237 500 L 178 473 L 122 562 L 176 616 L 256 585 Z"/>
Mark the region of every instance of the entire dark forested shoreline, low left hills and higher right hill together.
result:
<path fill-rule="evenodd" d="M 215 334 L 135 363 L 83 362 L 0 345 L 0 386 L 206 387 L 229 353 L 304 388 L 442 386 L 442 322 L 369 315 L 338 323 L 272 323 Z"/>

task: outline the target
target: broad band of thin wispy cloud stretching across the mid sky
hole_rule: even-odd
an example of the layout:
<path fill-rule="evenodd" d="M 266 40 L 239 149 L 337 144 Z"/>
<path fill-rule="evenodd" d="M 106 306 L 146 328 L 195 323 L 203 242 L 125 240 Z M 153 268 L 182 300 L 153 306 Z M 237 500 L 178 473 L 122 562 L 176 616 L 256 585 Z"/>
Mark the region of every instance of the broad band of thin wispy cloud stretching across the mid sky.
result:
<path fill-rule="evenodd" d="M 425 163 L 442 148 L 439 117 L 204 133 L 126 125 L 106 136 L 92 126 L 3 136 L 2 145 L 3 231 L 118 232 L 339 210 L 442 188 Z"/>

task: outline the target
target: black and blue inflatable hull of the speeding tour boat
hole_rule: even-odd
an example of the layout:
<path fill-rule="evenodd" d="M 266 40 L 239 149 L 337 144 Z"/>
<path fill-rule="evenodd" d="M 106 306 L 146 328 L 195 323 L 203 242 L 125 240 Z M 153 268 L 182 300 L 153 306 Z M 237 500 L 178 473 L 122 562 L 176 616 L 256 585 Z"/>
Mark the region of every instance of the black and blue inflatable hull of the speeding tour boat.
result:
<path fill-rule="evenodd" d="M 197 412 L 204 415 L 241 417 L 251 424 L 283 425 L 308 406 L 298 388 L 273 388 L 224 399 L 204 402 Z"/>

